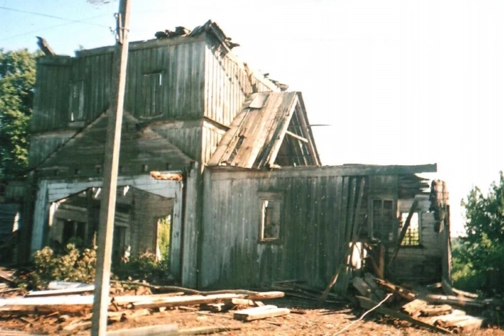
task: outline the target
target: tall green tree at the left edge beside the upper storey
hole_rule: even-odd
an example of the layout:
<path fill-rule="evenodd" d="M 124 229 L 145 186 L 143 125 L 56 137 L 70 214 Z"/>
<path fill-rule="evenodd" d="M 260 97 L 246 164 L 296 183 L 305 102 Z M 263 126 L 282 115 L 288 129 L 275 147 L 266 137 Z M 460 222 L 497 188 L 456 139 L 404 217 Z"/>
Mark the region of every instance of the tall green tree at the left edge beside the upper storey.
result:
<path fill-rule="evenodd" d="M 22 176 L 27 168 L 37 56 L 0 49 L 0 181 Z"/>

